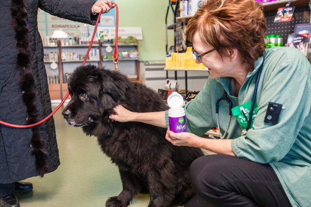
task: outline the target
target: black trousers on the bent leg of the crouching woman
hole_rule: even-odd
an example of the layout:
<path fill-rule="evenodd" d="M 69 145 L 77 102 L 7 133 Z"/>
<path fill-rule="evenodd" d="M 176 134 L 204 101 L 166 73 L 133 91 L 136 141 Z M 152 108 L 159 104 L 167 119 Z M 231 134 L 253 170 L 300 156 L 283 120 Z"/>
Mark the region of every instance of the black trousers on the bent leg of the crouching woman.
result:
<path fill-rule="evenodd" d="M 185 207 L 291 206 L 269 164 L 258 164 L 230 155 L 206 155 L 190 166 L 196 195 Z"/>

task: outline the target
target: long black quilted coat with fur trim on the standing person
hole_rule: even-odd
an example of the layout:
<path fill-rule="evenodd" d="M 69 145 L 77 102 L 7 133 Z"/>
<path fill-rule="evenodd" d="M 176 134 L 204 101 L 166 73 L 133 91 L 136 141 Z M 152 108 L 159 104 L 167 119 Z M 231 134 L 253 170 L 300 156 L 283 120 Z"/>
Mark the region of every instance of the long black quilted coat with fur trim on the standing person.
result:
<path fill-rule="evenodd" d="M 38 8 L 52 15 L 95 24 L 93 0 L 1 0 L 0 120 L 32 124 L 51 113 Z M 0 183 L 43 176 L 59 166 L 53 118 L 33 128 L 0 125 Z"/>

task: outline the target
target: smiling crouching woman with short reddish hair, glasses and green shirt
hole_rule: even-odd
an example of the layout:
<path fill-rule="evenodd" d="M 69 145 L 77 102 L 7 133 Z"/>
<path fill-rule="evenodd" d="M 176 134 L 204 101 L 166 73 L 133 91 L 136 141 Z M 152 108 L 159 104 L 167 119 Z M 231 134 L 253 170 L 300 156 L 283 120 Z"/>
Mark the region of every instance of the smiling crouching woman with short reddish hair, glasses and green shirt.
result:
<path fill-rule="evenodd" d="M 188 22 L 186 36 L 202 54 L 196 61 L 209 68 L 210 77 L 197 97 L 183 106 L 189 133 L 168 129 L 166 139 L 217 155 L 192 163 L 197 194 L 186 207 L 311 203 L 311 66 L 295 48 L 265 50 L 266 29 L 262 6 L 253 0 L 208 0 Z M 253 128 L 241 136 L 239 122 L 232 117 L 225 139 L 201 138 L 217 126 L 215 104 L 224 91 L 233 107 L 252 100 L 261 65 Z M 275 125 L 265 122 L 269 102 L 283 106 Z M 228 108 L 226 101 L 220 101 L 222 133 Z M 169 126 L 167 111 L 133 113 L 117 106 L 110 119 Z"/>

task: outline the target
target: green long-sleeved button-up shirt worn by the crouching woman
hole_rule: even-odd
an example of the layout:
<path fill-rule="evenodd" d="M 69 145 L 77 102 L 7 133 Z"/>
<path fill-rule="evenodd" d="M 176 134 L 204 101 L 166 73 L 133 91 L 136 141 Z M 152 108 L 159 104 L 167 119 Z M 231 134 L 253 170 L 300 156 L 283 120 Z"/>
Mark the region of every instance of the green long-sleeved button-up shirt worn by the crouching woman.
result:
<path fill-rule="evenodd" d="M 187 131 L 202 136 L 216 127 L 215 104 L 224 89 L 233 107 L 252 100 L 260 57 L 243 83 L 239 97 L 235 97 L 229 77 L 208 78 L 193 101 L 183 106 L 186 110 Z M 269 163 L 293 206 L 311 206 L 311 66 L 305 56 L 291 47 L 266 50 L 260 76 L 256 103 L 258 110 L 253 128 L 241 136 L 241 127 L 233 116 L 226 138 L 241 158 L 257 163 Z M 264 123 L 269 102 L 282 104 L 279 122 Z M 220 101 L 220 131 L 228 124 L 228 103 Z M 168 111 L 165 113 L 166 124 Z"/>

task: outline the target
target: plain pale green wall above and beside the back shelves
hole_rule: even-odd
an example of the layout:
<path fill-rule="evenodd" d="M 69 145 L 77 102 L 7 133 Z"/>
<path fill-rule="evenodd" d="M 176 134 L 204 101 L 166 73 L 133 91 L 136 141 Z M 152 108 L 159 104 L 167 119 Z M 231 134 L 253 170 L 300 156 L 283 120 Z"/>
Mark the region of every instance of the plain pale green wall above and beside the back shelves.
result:
<path fill-rule="evenodd" d="M 117 0 L 120 27 L 142 27 L 139 41 L 140 61 L 165 60 L 165 14 L 167 0 Z M 168 25 L 172 24 L 169 12 Z M 169 45 L 174 44 L 173 30 L 169 30 Z"/>

